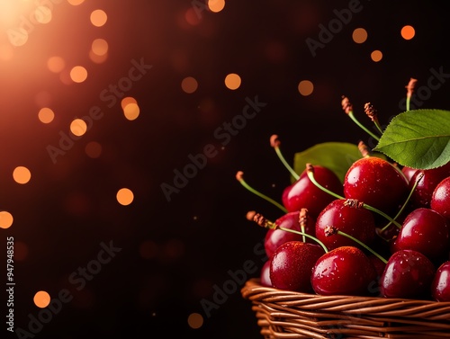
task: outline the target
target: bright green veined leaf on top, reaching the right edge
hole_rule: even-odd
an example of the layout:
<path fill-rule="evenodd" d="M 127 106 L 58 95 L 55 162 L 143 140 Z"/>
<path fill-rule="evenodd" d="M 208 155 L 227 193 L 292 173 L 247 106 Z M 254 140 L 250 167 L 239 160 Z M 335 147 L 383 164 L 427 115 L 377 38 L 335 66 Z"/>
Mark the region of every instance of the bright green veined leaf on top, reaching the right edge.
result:
<path fill-rule="evenodd" d="M 403 166 L 436 168 L 450 160 L 450 112 L 413 110 L 395 116 L 374 151 Z"/>

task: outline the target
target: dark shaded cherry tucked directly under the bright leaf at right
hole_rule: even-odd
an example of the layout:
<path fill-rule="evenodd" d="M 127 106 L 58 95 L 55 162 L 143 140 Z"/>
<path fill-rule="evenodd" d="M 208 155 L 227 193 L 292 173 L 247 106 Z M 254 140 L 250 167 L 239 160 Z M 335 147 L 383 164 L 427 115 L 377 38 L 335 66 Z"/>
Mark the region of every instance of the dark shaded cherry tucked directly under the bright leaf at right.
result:
<path fill-rule="evenodd" d="M 416 171 L 411 177 L 410 186 L 416 182 L 419 174 L 421 174 L 422 177 L 419 179 L 419 183 L 417 183 L 416 189 L 412 193 L 410 199 L 412 209 L 430 207 L 431 197 L 437 184 L 446 179 L 447 176 L 450 176 L 450 162 L 437 168 Z"/>

